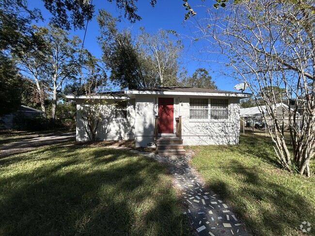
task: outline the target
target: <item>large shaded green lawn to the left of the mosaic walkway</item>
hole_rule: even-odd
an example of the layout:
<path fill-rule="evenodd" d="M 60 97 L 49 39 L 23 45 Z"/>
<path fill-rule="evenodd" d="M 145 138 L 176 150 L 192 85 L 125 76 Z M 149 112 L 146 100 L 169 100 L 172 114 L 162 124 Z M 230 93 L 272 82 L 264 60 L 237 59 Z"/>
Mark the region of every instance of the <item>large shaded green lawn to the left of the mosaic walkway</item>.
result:
<path fill-rule="evenodd" d="M 52 146 L 0 159 L 0 235 L 189 235 L 165 167 L 128 151 Z"/>

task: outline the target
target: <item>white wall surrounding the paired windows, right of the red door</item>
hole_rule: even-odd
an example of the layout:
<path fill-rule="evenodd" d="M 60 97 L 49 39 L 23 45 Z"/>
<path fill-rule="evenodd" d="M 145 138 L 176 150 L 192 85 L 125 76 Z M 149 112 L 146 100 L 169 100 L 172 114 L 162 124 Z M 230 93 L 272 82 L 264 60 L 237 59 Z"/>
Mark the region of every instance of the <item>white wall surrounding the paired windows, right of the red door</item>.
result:
<path fill-rule="evenodd" d="M 226 145 L 238 144 L 239 137 L 239 99 L 229 99 L 228 120 L 190 120 L 189 98 L 180 97 L 179 114 L 182 116 L 182 138 L 184 145 Z M 213 97 L 215 98 L 215 97 Z"/>

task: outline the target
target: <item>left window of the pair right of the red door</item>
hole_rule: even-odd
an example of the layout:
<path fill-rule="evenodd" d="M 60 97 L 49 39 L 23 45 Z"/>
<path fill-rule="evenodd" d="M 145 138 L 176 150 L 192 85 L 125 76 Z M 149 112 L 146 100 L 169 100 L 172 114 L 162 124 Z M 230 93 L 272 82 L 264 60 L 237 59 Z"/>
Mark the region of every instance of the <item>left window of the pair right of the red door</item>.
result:
<path fill-rule="evenodd" d="M 208 118 L 208 99 L 191 98 L 189 100 L 189 118 L 207 119 Z"/>

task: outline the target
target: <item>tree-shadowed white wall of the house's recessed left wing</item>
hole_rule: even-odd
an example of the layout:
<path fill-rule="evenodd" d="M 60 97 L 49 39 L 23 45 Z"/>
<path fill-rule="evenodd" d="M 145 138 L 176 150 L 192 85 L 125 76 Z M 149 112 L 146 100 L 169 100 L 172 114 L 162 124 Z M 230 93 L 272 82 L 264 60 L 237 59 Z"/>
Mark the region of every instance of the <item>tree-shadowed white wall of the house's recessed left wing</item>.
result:
<path fill-rule="evenodd" d="M 77 141 L 89 141 L 89 136 L 85 132 L 84 122 L 80 115 L 79 110 L 82 106 L 86 106 L 82 103 L 83 100 L 77 100 Z M 135 100 L 128 100 L 127 105 L 127 118 L 114 118 L 113 106 L 116 100 L 107 100 L 106 108 L 112 110 L 109 116 L 102 118 L 97 129 L 97 140 L 119 140 L 121 137 L 124 139 L 135 138 Z M 118 100 L 117 100 L 118 101 Z"/>

